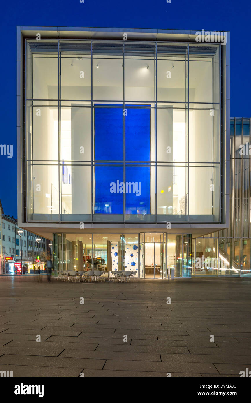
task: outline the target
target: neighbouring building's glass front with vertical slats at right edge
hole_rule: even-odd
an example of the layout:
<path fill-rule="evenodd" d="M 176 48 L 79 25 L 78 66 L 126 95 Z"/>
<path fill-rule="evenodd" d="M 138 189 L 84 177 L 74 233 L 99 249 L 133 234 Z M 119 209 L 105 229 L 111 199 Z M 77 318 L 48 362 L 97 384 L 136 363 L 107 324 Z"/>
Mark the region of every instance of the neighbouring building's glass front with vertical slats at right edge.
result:
<path fill-rule="evenodd" d="M 193 275 L 251 277 L 251 119 L 230 119 L 229 228 L 198 238 L 193 246 Z M 194 252 L 195 250 L 195 252 Z M 195 258 L 210 257 L 210 268 L 195 268 Z"/>

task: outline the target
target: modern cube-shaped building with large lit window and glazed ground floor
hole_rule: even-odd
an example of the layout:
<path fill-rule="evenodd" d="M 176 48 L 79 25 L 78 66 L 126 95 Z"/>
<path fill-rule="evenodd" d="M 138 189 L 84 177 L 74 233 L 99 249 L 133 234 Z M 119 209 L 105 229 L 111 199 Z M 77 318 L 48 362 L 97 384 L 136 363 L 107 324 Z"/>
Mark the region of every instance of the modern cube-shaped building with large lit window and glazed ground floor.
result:
<path fill-rule="evenodd" d="M 191 276 L 228 228 L 229 37 L 196 37 L 17 27 L 18 220 L 57 270 Z"/>

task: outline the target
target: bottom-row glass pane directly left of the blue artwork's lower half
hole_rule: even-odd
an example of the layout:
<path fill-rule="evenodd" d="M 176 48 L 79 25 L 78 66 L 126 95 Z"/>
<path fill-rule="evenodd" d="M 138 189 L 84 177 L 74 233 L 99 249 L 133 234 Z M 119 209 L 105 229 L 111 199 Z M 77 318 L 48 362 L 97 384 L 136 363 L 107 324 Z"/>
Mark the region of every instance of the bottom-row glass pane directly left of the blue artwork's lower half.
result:
<path fill-rule="evenodd" d="M 63 220 L 91 220 L 91 166 L 63 162 L 61 203 Z"/>

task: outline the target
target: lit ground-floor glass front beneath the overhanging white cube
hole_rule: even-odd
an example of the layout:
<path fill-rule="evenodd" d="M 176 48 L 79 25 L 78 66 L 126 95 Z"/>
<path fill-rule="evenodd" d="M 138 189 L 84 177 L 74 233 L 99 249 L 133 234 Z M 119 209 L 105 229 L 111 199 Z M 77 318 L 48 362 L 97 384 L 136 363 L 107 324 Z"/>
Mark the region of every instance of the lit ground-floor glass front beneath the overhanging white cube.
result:
<path fill-rule="evenodd" d="M 85 233 L 53 234 L 53 257 L 58 270 L 93 270 L 95 259 L 106 276 L 132 270 L 138 278 L 191 277 L 191 234 Z"/>

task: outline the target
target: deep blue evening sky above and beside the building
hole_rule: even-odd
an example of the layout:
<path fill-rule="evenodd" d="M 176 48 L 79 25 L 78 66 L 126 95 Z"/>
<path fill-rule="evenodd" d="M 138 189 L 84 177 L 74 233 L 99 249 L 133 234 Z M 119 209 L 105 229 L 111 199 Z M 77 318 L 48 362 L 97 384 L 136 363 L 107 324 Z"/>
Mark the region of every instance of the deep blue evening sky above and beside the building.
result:
<path fill-rule="evenodd" d="M 249 117 L 250 16 L 250 0 L 5 0 L 0 16 L 0 144 L 13 144 L 13 158 L 0 156 L 4 213 L 17 215 L 16 25 L 230 31 L 230 116 Z"/>

